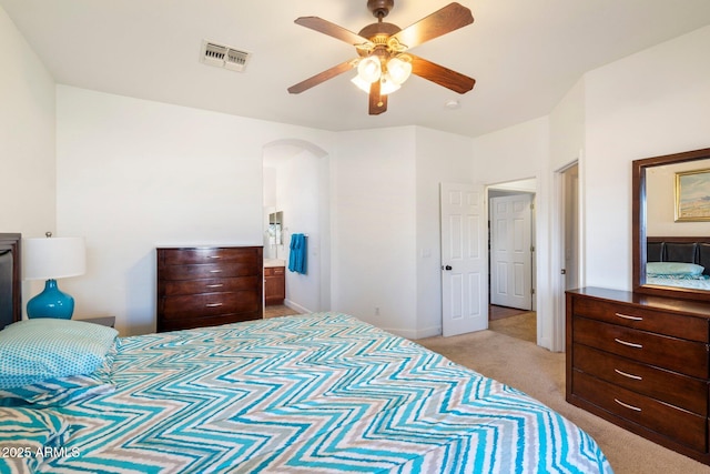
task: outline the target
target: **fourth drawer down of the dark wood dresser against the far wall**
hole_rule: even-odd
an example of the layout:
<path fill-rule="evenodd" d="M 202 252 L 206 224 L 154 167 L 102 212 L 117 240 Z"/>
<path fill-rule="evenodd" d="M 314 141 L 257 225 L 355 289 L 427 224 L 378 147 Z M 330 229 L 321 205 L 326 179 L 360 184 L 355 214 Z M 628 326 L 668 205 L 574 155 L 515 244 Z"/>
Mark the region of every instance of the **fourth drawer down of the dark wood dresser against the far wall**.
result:
<path fill-rule="evenodd" d="M 255 312 L 261 304 L 253 291 L 166 296 L 162 300 L 162 315 L 166 321 L 192 317 L 196 322 L 203 316 Z"/>

